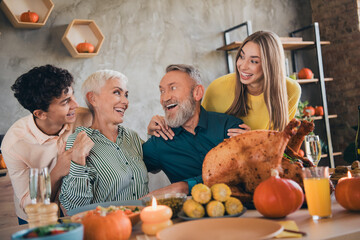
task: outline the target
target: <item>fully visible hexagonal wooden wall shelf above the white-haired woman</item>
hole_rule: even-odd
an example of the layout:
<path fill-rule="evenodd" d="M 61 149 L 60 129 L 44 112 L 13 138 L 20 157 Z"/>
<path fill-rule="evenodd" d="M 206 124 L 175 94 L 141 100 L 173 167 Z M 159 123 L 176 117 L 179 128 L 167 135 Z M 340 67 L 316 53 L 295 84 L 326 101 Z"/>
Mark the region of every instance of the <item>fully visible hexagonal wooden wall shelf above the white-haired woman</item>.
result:
<path fill-rule="evenodd" d="M 105 37 L 93 20 L 74 19 L 67 27 L 62 42 L 73 58 L 90 58 L 98 55 Z M 79 43 L 91 43 L 93 53 L 79 53 L 76 46 Z"/>

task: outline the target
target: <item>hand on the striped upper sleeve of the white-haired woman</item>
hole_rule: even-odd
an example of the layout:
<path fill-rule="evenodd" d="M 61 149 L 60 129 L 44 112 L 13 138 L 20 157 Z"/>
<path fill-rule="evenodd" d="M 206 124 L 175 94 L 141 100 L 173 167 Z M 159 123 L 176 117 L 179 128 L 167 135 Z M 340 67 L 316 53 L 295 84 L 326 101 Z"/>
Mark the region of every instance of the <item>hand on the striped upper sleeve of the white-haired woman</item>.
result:
<path fill-rule="evenodd" d="M 85 166 L 86 157 L 89 156 L 90 150 L 94 147 L 94 142 L 86 135 L 84 131 L 80 132 L 72 146 L 73 162 Z"/>

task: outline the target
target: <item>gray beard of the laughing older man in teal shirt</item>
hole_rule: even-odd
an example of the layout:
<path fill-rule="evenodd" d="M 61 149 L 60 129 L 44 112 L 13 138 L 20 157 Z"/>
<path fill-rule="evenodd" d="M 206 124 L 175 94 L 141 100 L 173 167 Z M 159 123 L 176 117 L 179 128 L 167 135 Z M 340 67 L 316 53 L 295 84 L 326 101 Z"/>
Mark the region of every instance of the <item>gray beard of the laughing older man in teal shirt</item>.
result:
<path fill-rule="evenodd" d="M 165 112 L 165 123 L 169 127 L 177 128 L 186 123 L 195 113 L 196 102 L 192 96 L 189 96 L 182 103 L 178 103 L 178 107 L 178 113 L 172 119 L 169 119 L 167 112 Z"/>

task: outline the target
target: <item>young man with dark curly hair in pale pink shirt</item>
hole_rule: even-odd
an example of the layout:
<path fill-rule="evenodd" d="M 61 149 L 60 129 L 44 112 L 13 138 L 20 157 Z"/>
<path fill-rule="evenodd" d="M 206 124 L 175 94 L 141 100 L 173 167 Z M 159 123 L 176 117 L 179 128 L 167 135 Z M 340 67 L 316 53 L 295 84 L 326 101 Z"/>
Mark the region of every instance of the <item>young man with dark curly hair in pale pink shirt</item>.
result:
<path fill-rule="evenodd" d="M 62 177 L 69 173 L 71 160 L 90 151 L 84 147 L 91 141 L 85 133 L 79 134 L 74 146 L 65 151 L 65 142 L 75 125 L 91 124 L 90 113 L 78 109 L 73 82 L 67 70 L 45 65 L 21 75 L 11 87 L 19 103 L 31 112 L 10 127 L 1 145 L 19 224 L 26 223 L 24 208 L 31 202 L 29 169 L 49 168 L 54 201 Z M 76 115 L 82 115 L 78 118 L 82 122 L 75 123 Z"/>

